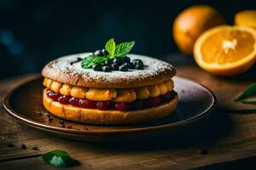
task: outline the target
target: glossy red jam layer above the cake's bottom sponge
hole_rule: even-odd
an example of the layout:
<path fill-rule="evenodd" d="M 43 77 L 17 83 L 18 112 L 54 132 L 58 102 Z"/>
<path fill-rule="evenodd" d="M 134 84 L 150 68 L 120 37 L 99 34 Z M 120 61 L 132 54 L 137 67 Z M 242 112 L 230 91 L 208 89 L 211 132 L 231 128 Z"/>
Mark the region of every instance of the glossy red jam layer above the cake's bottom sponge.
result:
<path fill-rule="evenodd" d="M 91 99 L 79 99 L 72 96 L 56 94 L 55 92 L 47 89 L 46 94 L 50 99 L 58 101 L 63 105 L 73 105 L 86 109 L 98 109 L 101 111 L 115 110 L 115 111 L 132 111 L 144 108 L 150 108 L 170 102 L 177 95 L 175 91 L 168 92 L 167 94 L 160 95 L 156 98 L 148 98 L 143 100 L 135 100 L 131 103 L 115 103 L 113 101 L 96 101 Z"/>

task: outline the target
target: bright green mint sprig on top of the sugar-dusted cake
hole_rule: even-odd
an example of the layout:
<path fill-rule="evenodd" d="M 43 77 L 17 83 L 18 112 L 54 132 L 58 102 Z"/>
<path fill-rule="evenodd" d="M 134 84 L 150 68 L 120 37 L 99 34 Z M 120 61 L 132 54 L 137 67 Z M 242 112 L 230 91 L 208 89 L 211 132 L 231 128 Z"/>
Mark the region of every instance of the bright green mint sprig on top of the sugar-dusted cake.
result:
<path fill-rule="evenodd" d="M 123 58 L 125 55 L 129 54 L 133 48 L 135 42 L 121 42 L 118 45 L 111 38 L 106 42 L 105 49 L 108 51 L 106 56 L 97 56 L 95 54 L 90 54 L 88 57 L 84 57 L 81 66 L 84 69 L 89 69 L 92 65 L 103 65 L 103 63 L 108 59 Z"/>

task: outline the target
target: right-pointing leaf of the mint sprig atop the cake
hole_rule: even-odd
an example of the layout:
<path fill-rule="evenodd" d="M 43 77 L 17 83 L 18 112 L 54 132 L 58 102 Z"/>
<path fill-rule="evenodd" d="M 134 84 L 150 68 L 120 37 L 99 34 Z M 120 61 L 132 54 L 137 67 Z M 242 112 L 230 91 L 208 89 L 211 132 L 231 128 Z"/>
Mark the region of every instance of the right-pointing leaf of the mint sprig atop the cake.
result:
<path fill-rule="evenodd" d="M 133 48 L 135 42 L 121 42 L 115 48 L 115 57 L 125 57 L 126 54 L 129 54 Z"/>

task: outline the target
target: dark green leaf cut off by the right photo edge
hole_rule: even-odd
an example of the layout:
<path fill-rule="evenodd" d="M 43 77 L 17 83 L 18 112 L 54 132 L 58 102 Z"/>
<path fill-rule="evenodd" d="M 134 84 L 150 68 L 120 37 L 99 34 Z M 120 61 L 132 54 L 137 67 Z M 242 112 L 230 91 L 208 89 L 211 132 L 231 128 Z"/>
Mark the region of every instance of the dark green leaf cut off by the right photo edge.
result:
<path fill-rule="evenodd" d="M 256 105 L 256 100 L 248 100 L 256 97 L 256 83 L 246 88 L 242 94 L 235 99 L 236 102 L 241 102 L 247 105 Z"/>

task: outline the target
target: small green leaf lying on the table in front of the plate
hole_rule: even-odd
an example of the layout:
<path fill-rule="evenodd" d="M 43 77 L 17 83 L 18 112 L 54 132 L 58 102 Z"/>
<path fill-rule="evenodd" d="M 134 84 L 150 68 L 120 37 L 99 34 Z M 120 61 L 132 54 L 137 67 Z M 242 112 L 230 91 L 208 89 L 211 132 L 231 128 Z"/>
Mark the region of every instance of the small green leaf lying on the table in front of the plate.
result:
<path fill-rule="evenodd" d="M 79 164 L 64 150 L 52 150 L 42 156 L 43 160 L 54 167 L 72 167 Z"/>

